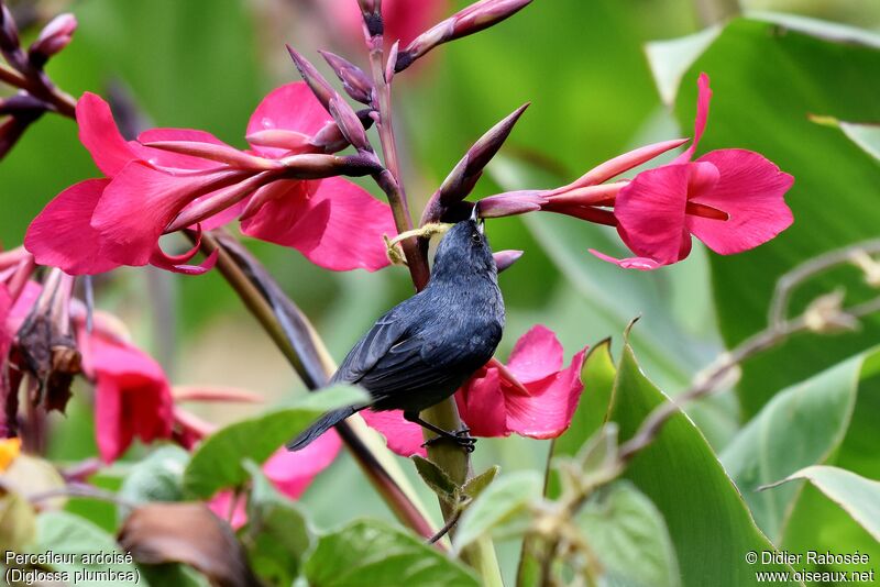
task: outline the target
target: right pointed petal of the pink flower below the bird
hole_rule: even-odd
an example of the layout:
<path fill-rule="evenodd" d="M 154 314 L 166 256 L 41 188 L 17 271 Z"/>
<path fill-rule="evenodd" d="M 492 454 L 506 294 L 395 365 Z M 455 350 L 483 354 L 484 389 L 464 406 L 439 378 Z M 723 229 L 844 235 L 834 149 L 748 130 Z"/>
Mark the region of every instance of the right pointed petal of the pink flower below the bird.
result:
<path fill-rule="evenodd" d="M 574 355 L 566 369 L 527 385 L 531 396 L 506 395 L 507 428 L 532 439 L 554 439 L 568 430 L 584 389 L 585 354 L 586 348 Z"/>

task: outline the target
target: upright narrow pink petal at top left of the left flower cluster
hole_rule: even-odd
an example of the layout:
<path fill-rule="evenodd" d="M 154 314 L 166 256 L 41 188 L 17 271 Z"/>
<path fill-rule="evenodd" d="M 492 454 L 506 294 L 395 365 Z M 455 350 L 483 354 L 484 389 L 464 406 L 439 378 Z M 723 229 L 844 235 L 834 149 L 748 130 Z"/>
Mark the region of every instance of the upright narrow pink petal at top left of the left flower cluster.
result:
<path fill-rule="evenodd" d="M 79 125 L 79 141 L 105 175 L 117 175 L 136 158 L 120 134 L 110 106 L 99 96 L 88 91 L 82 95 L 76 103 L 76 122 Z"/>

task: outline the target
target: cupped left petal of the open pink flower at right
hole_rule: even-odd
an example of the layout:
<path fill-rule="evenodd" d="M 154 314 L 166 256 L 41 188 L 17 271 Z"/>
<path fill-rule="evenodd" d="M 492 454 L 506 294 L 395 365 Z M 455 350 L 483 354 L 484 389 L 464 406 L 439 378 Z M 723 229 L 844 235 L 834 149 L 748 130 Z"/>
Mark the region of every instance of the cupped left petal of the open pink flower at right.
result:
<path fill-rule="evenodd" d="M 688 165 L 664 165 L 640 173 L 620 190 L 614 208 L 617 232 L 637 256 L 668 265 L 688 255 L 689 179 Z"/>

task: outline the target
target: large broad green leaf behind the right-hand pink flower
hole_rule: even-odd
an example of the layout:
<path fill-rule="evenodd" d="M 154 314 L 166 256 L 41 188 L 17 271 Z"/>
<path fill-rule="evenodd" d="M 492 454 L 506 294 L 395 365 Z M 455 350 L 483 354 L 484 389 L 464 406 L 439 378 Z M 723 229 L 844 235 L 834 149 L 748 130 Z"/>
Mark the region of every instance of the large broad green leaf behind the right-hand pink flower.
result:
<path fill-rule="evenodd" d="M 880 166 L 843 133 L 815 124 L 810 115 L 880 120 L 878 70 L 878 45 L 838 43 L 804 34 L 791 24 L 739 19 L 685 75 L 676 104 L 684 129 L 694 121 L 698 74 L 712 77 L 712 112 L 697 155 L 748 148 L 794 176 L 785 197 L 794 214 L 790 229 L 754 251 L 711 255 L 718 321 L 729 346 L 767 325 L 773 287 L 783 273 L 810 257 L 877 235 L 880 209 L 873 203 Z M 837 287 L 845 287 L 853 300 L 873 296 L 857 272 L 835 270 L 795 295 L 792 315 Z M 748 361 L 738 386 L 746 416 L 757 413 L 785 386 L 875 344 L 880 318 L 867 319 L 864 325 L 858 333 L 833 340 L 798 336 Z M 785 368 L 780 368 L 783 364 Z"/>

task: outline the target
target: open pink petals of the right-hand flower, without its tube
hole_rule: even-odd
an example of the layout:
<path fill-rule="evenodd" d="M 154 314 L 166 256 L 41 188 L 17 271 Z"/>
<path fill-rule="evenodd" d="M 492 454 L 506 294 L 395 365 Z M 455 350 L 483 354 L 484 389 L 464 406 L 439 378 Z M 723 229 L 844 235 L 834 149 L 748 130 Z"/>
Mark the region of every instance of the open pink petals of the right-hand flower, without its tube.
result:
<path fill-rule="evenodd" d="M 694 141 L 671 164 L 638 174 L 614 201 L 617 232 L 636 257 L 600 258 L 622 267 L 653 269 L 691 251 L 691 234 L 722 255 L 773 239 L 793 221 L 783 199 L 794 178 L 758 153 L 710 152 L 691 160 L 708 117 L 708 76 L 698 80 Z"/>

